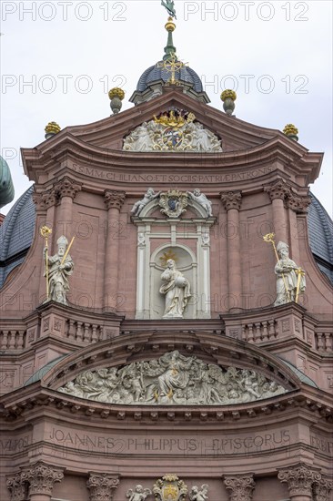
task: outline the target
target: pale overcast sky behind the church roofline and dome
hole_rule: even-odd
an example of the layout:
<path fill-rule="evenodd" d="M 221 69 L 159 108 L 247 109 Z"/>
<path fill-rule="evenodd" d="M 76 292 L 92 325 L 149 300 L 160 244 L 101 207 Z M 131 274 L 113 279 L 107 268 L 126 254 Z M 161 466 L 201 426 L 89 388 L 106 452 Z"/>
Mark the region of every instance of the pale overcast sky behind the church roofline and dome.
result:
<path fill-rule="evenodd" d="M 202 77 L 209 106 L 221 108 L 221 90 L 237 87 L 238 118 L 295 124 L 301 144 L 325 152 L 311 189 L 331 214 L 332 2 L 175 5 L 177 55 Z M 128 99 L 163 56 L 165 22 L 159 0 L 1 2 L 1 152 L 15 199 L 31 184 L 19 148 L 42 142 L 51 120 L 65 128 L 107 117 L 111 87 Z"/>

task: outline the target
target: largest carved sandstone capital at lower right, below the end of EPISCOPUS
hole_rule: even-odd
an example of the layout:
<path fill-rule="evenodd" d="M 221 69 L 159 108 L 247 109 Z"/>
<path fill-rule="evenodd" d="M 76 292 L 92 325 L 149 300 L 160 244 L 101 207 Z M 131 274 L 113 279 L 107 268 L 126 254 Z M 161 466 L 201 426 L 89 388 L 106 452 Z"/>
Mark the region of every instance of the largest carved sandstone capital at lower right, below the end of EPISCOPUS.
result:
<path fill-rule="evenodd" d="M 318 470 L 308 465 L 298 463 L 278 472 L 278 480 L 288 483 L 289 496 L 308 496 L 312 499 L 312 485 L 318 482 L 321 475 Z"/>

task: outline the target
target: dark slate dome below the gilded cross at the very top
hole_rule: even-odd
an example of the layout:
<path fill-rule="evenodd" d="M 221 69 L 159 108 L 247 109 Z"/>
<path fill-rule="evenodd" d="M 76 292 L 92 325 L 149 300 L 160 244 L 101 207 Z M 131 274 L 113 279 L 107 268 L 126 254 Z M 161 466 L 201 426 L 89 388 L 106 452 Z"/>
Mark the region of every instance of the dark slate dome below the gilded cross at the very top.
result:
<path fill-rule="evenodd" d="M 159 61 L 159 63 L 154 66 L 148 67 L 146 71 L 144 71 L 144 73 L 139 78 L 139 81 L 137 82 L 137 91 L 144 92 L 147 86 L 152 82 L 156 82 L 156 80 L 163 80 L 164 82 L 167 82 L 167 80 L 170 78 L 170 72 L 166 71 L 166 69 L 163 67 L 158 67 L 163 65 L 163 63 L 163 61 Z M 193 88 L 197 92 L 203 91 L 201 80 L 192 68 L 188 66 L 182 67 L 175 73 L 175 77 L 177 80 L 182 80 L 183 82 L 193 84 Z"/>

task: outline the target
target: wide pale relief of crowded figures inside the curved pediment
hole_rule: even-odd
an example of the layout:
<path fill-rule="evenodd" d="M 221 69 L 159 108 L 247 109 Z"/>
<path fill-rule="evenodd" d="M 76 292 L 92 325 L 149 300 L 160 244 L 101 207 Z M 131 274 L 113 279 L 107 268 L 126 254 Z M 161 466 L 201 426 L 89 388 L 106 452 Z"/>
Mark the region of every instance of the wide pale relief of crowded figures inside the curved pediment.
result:
<path fill-rule="evenodd" d="M 191 406 L 247 404 L 288 392 L 257 370 L 222 367 L 178 351 L 86 370 L 57 391 L 104 404 Z"/>

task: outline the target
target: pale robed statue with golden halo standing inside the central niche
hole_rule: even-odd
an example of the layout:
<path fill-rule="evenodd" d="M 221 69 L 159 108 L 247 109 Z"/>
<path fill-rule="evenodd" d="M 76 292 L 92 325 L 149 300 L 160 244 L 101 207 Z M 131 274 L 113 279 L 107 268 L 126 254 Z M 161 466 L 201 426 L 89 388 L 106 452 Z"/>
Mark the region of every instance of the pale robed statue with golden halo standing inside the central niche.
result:
<path fill-rule="evenodd" d="M 191 297 L 190 285 L 183 273 L 177 270 L 174 260 L 166 261 L 166 271 L 163 271 L 161 280 L 165 283 L 159 291 L 166 296 L 166 308 L 163 318 L 184 318 L 183 313 Z"/>

